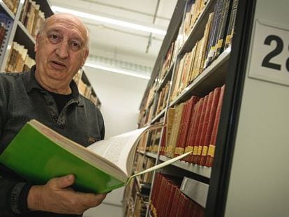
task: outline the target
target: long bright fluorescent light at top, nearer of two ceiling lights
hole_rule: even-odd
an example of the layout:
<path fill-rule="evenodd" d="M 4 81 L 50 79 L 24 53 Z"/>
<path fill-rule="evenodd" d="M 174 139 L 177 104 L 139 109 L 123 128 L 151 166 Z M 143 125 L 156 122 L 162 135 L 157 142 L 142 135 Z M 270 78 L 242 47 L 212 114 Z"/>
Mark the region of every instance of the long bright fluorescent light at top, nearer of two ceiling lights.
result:
<path fill-rule="evenodd" d="M 92 14 L 80 12 L 80 11 L 77 11 L 77 10 L 61 8 L 61 7 L 57 7 L 57 6 L 52 6 L 52 10 L 54 12 L 60 12 L 60 13 L 71 13 L 71 14 L 76 15 L 78 17 L 84 17 L 84 18 L 87 18 L 87 19 L 90 19 L 90 20 L 96 20 L 96 21 L 99 21 L 99 22 L 105 22 L 105 23 L 117 25 L 117 26 L 120 26 L 120 27 L 127 27 L 127 28 L 130 28 L 130 29 L 146 31 L 146 32 L 149 32 L 149 33 L 156 33 L 156 34 L 159 34 L 159 35 L 162 35 L 162 36 L 165 36 L 165 34 L 167 33 L 166 31 L 163 31 L 161 29 L 156 29 L 156 28 L 153 28 L 153 27 L 146 27 L 146 26 L 143 26 L 143 25 L 140 25 L 140 24 L 134 24 L 134 23 L 131 23 L 131 22 L 124 22 L 124 21 L 121 21 L 121 20 L 115 20 L 115 19 L 108 18 L 108 17 L 101 17 L 101 16 L 98 16 L 98 15 L 92 15 Z"/>

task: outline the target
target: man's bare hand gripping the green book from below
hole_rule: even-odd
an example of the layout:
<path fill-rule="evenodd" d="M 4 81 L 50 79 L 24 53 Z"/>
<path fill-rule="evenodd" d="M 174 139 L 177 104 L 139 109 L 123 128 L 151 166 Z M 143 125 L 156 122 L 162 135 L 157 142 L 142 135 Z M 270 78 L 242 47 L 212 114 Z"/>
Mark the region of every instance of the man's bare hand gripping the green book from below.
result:
<path fill-rule="evenodd" d="M 44 186 L 32 186 L 27 198 L 28 208 L 57 214 L 82 214 L 103 202 L 106 194 L 81 193 L 69 188 L 74 180 L 70 174 L 50 179 Z"/>

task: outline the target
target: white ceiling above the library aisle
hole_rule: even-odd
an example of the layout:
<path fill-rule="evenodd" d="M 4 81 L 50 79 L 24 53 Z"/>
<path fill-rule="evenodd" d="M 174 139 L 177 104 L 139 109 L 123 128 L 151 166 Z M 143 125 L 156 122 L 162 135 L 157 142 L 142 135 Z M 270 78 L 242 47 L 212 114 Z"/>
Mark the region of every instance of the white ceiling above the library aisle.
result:
<path fill-rule="evenodd" d="M 109 17 L 166 31 L 177 0 L 50 0 L 51 6 Z M 53 10 L 53 7 L 52 7 Z M 80 17 L 90 33 L 88 61 L 140 67 L 154 66 L 164 36 Z"/>

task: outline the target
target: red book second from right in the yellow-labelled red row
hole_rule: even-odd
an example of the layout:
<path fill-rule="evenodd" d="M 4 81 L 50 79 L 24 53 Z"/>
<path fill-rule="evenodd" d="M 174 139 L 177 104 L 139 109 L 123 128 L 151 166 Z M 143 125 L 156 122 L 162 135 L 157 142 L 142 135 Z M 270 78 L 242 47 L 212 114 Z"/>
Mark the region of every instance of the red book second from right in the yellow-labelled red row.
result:
<path fill-rule="evenodd" d="M 217 87 L 214 89 L 214 93 L 213 93 L 214 96 L 212 100 L 212 106 L 209 112 L 209 123 L 207 124 L 208 125 L 207 131 L 205 133 L 205 140 L 203 141 L 203 147 L 202 147 L 202 156 L 200 158 L 200 165 L 202 166 L 204 166 L 206 163 L 209 141 L 212 136 L 214 120 L 216 117 L 216 107 L 218 106 L 218 99 L 220 98 L 220 91 L 221 91 L 221 87 Z"/>

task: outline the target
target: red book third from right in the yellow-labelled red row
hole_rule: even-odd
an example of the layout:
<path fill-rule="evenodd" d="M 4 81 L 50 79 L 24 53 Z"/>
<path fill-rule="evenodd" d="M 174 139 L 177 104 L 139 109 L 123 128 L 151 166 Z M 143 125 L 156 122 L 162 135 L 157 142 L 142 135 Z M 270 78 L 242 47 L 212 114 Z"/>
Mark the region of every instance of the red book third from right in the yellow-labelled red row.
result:
<path fill-rule="evenodd" d="M 196 156 L 196 161 L 195 163 L 200 164 L 200 158 L 202 155 L 202 147 L 204 146 L 204 142 L 205 142 L 205 134 L 207 133 L 207 128 L 208 128 L 208 124 L 209 124 L 209 112 L 211 110 L 212 107 L 212 102 L 213 102 L 213 96 L 214 96 L 214 92 L 210 92 L 209 95 L 207 95 L 207 105 L 206 105 L 206 109 L 205 109 L 205 116 L 204 116 L 204 120 L 202 121 L 202 130 L 200 131 L 200 142 L 199 142 L 199 147 L 198 147 L 198 153 Z"/>

